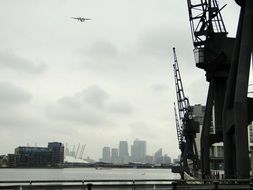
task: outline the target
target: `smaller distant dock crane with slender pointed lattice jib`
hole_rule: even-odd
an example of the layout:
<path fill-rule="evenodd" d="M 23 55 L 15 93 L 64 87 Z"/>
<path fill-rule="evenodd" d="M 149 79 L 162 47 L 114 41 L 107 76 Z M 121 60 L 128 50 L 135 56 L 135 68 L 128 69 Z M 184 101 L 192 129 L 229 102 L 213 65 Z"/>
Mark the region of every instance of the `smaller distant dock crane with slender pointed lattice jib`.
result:
<path fill-rule="evenodd" d="M 199 161 L 195 137 L 196 133 L 199 132 L 199 123 L 194 121 L 192 107 L 190 106 L 189 99 L 184 94 L 175 48 L 173 48 L 173 55 L 173 69 L 179 115 L 179 119 L 177 119 L 177 112 L 175 108 L 177 136 L 179 148 L 181 150 L 180 164 L 183 171 L 189 173 L 190 175 L 196 175 Z M 183 172 L 182 170 L 180 173 Z"/>

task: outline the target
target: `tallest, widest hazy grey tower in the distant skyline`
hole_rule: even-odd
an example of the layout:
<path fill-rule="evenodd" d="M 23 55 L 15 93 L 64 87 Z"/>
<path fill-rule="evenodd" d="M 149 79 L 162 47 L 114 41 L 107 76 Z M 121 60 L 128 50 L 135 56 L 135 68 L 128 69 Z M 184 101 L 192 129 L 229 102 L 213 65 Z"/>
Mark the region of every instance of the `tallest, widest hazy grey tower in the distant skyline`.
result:
<path fill-rule="evenodd" d="M 133 162 L 144 162 L 146 156 L 146 141 L 136 139 L 131 146 L 131 158 Z"/>

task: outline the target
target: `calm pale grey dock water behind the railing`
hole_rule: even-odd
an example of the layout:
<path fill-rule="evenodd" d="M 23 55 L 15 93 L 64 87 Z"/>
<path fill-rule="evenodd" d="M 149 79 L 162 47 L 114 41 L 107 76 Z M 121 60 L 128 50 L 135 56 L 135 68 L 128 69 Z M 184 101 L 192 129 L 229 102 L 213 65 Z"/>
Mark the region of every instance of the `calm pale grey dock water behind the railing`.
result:
<path fill-rule="evenodd" d="M 170 169 L 0 169 L 0 180 L 179 179 Z"/>

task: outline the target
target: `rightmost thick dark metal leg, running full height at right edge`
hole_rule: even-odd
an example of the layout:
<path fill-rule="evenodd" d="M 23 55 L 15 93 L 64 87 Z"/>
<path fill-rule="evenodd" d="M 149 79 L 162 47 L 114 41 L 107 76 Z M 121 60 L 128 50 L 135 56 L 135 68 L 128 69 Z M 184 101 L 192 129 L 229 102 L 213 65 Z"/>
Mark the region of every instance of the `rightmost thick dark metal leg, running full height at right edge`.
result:
<path fill-rule="evenodd" d="M 243 16 L 242 38 L 239 52 L 239 65 L 235 89 L 235 138 L 236 161 L 238 178 L 249 178 L 249 149 L 248 149 L 248 82 L 250 59 L 253 46 L 253 1 L 245 1 Z"/>

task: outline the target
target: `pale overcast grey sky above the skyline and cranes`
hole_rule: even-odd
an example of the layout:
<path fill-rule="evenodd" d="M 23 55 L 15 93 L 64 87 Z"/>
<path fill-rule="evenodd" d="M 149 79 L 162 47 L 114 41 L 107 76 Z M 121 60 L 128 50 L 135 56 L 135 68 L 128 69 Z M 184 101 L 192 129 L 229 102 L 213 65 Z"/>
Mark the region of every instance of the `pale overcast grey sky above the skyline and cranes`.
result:
<path fill-rule="evenodd" d="M 239 7 L 219 3 L 233 37 Z M 178 156 L 173 47 L 190 103 L 208 88 L 186 1 L 1 0 L 0 25 L 0 154 L 58 141 L 97 160 L 138 138 L 149 155 Z"/>

